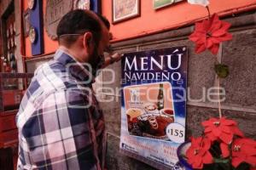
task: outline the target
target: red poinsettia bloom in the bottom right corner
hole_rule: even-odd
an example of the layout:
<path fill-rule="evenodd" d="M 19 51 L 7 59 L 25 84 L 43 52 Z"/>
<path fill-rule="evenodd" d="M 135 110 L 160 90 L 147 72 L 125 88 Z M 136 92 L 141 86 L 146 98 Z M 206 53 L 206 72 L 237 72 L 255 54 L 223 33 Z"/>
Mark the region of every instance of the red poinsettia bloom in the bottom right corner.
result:
<path fill-rule="evenodd" d="M 232 144 L 232 165 L 237 167 L 247 162 L 256 167 L 256 141 L 253 139 L 235 139 Z"/>

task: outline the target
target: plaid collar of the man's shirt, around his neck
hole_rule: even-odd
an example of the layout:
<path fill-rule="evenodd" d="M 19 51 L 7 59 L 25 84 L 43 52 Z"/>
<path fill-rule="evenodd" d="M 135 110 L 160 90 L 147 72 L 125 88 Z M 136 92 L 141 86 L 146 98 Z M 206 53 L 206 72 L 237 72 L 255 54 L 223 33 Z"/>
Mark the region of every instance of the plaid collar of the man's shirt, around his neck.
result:
<path fill-rule="evenodd" d="M 86 84 L 91 84 L 95 82 L 95 77 L 91 74 L 88 63 L 80 63 L 65 49 L 59 48 L 55 52 L 54 59 L 65 65 L 67 72 L 69 72 L 73 77 L 77 78 L 79 82 L 84 82 Z"/>

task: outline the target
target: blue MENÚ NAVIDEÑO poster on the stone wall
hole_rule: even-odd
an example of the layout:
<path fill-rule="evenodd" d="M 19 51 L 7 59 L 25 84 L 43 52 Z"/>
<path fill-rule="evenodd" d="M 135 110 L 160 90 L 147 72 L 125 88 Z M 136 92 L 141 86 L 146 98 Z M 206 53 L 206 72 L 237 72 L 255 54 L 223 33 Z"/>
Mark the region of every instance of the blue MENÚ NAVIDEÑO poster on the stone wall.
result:
<path fill-rule="evenodd" d="M 181 169 L 185 139 L 188 49 L 125 54 L 122 61 L 120 151 L 158 169 Z"/>

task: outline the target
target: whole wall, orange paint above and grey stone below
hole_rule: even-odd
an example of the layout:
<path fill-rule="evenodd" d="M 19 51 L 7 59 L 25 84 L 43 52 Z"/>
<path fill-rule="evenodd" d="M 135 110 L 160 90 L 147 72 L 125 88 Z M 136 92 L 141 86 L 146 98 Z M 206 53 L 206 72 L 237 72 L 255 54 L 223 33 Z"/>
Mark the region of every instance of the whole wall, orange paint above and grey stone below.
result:
<path fill-rule="evenodd" d="M 226 100 L 222 104 L 224 116 L 235 119 L 241 130 L 247 137 L 256 139 L 254 122 L 256 121 L 256 13 L 255 10 L 244 8 L 255 5 L 254 0 L 210 0 L 212 12 L 224 14 L 232 23 L 231 33 L 233 40 L 224 42 L 222 53 L 218 59 L 230 66 L 230 76 L 221 80 L 221 87 L 226 90 Z M 26 8 L 26 6 L 24 6 Z M 44 2 L 45 7 L 45 2 Z M 111 20 L 111 0 L 102 1 L 102 13 Z M 255 8 L 251 6 L 250 8 Z M 239 11 L 241 10 L 241 11 Z M 241 13 L 247 10 L 246 13 Z M 45 8 L 44 8 L 45 11 Z M 227 14 L 227 12 L 234 13 Z M 238 13 L 239 14 L 236 14 Z M 217 79 L 213 71 L 215 56 L 209 52 L 195 54 L 195 45 L 188 40 L 194 27 L 192 20 L 201 20 L 207 16 L 207 11 L 198 6 L 178 3 L 154 11 L 152 1 L 142 0 L 141 17 L 127 20 L 112 26 L 113 48 L 116 52 L 127 53 L 153 48 L 166 48 L 186 45 L 189 48 L 188 87 L 191 99 L 200 99 L 202 88 L 216 86 Z M 156 24 L 157 23 L 157 24 Z M 189 24 L 190 23 L 190 24 Z M 186 24 L 186 27 L 183 26 Z M 179 27 L 178 29 L 171 29 Z M 170 30 L 171 29 L 171 30 Z M 162 31 L 162 32 L 160 32 Z M 153 34 L 154 33 L 154 34 Z M 142 37 L 144 36 L 144 37 Z M 133 38 L 132 38 L 133 37 Z M 26 55 L 30 56 L 29 42 L 26 39 Z M 30 71 L 33 71 L 39 62 L 44 62 L 52 57 L 56 43 L 52 43 L 44 31 L 45 55 L 41 58 L 33 58 L 26 61 Z M 47 44 L 50 46 L 47 47 Z M 97 83 L 95 88 L 119 88 L 120 87 L 120 63 L 108 67 L 113 69 L 117 78 L 113 83 Z M 107 71 L 102 71 L 99 79 L 107 82 L 112 79 Z M 109 94 L 105 89 L 98 96 L 101 99 L 111 99 L 111 103 L 102 102 L 102 109 L 106 118 L 108 130 L 108 169 L 137 169 L 151 170 L 153 167 L 143 164 L 127 156 L 119 154 L 120 136 L 120 96 Z M 201 134 L 201 121 L 210 116 L 218 116 L 218 105 L 209 101 L 189 101 L 187 105 L 187 137 Z"/>

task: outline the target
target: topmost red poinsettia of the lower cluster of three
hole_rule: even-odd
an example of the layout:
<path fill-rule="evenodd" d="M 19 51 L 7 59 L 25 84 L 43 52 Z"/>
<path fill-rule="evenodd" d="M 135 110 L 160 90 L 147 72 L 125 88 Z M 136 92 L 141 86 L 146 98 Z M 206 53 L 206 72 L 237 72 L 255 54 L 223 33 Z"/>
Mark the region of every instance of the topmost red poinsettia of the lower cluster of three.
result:
<path fill-rule="evenodd" d="M 225 144 L 230 144 L 234 134 L 243 137 L 243 133 L 237 127 L 236 122 L 225 117 L 220 119 L 210 118 L 208 121 L 202 122 L 202 125 L 205 127 L 207 138 L 212 141 L 220 139 Z"/>

